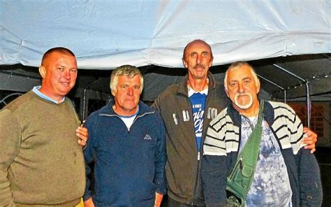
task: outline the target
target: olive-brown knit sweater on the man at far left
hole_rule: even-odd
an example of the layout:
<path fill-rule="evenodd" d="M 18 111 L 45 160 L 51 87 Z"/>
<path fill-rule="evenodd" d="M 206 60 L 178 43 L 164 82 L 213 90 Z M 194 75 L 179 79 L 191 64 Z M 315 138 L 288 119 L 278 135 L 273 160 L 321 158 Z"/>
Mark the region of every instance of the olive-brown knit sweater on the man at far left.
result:
<path fill-rule="evenodd" d="M 84 157 L 71 104 L 67 98 L 52 103 L 31 91 L 0 111 L 0 206 L 79 202 Z"/>

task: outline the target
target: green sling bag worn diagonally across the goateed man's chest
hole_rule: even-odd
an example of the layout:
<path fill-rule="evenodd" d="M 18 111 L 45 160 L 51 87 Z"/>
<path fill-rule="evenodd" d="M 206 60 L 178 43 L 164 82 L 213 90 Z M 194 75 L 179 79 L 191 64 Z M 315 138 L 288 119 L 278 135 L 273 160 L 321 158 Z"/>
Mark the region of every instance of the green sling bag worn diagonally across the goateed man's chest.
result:
<path fill-rule="evenodd" d="M 239 206 L 244 206 L 249 187 L 256 169 L 256 162 L 258 160 L 258 152 L 260 151 L 260 141 L 262 136 L 262 122 L 263 122 L 263 108 L 264 101 L 260 101 L 260 108 L 258 111 L 258 123 L 254 127 L 249 139 L 244 148 L 237 157 L 237 162 L 230 176 L 227 178 L 226 190 L 231 192 L 237 198 L 232 198 L 239 201 Z"/>

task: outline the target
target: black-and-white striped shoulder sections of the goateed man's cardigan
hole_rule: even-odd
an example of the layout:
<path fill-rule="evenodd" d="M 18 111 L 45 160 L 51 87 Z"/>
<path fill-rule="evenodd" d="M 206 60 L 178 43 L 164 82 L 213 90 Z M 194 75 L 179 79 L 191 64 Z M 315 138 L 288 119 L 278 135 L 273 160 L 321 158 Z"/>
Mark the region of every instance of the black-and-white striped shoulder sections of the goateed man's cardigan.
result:
<path fill-rule="evenodd" d="M 292 148 L 293 154 L 302 148 L 302 122 L 286 103 L 265 101 L 264 119 L 274 132 L 282 149 Z M 240 143 L 241 117 L 233 106 L 224 109 L 210 122 L 204 144 L 204 155 L 237 152 Z"/>

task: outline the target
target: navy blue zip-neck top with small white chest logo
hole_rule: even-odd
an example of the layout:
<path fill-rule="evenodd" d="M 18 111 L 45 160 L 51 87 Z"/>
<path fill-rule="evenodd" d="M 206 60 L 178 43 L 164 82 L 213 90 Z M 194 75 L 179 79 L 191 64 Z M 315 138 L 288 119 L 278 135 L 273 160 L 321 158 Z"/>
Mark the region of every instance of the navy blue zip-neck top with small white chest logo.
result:
<path fill-rule="evenodd" d="M 84 150 L 84 201 L 92 197 L 96 206 L 154 206 L 155 192 L 166 191 L 163 121 L 159 113 L 140 101 L 138 115 L 128 129 L 112 109 L 113 104 L 110 101 L 92 113 L 84 124 L 89 130 Z"/>

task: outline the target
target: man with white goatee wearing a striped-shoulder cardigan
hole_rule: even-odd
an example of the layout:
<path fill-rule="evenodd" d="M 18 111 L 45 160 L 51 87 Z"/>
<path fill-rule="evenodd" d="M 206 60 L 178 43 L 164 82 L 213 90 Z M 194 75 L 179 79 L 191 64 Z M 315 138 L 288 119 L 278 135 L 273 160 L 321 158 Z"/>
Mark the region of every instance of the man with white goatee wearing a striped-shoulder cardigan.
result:
<path fill-rule="evenodd" d="M 206 206 L 227 205 L 227 176 L 258 122 L 260 81 L 253 67 L 231 64 L 224 87 L 232 105 L 210 122 L 204 143 Z M 264 102 L 260 150 L 245 206 L 321 206 L 320 171 L 314 155 L 304 148 L 304 136 L 290 106 Z"/>

